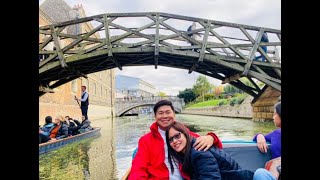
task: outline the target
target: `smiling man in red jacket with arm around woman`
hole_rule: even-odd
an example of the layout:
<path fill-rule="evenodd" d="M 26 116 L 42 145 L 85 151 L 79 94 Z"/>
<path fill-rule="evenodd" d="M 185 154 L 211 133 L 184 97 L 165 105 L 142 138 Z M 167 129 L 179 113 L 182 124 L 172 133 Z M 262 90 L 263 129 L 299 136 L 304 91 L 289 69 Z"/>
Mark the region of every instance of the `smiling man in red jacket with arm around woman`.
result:
<path fill-rule="evenodd" d="M 175 121 L 173 105 L 168 100 L 161 100 L 153 108 L 155 122 L 151 125 L 151 132 L 139 140 L 138 152 L 132 160 L 129 180 L 141 179 L 183 179 L 179 167 L 171 173 L 168 161 L 168 147 L 166 143 L 166 128 Z M 212 145 L 222 148 L 220 139 L 214 133 L 200 136 L 190 131 L 190 135 L 197 137 L 194 147 L 196 150 L 208 150 Z"/>

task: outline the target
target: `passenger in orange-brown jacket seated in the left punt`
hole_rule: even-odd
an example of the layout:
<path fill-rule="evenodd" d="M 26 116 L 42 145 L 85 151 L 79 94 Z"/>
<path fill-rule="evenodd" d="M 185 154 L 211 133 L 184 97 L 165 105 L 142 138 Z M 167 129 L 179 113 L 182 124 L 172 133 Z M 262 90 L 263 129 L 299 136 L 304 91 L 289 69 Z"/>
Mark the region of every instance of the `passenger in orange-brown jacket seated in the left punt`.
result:
<path fill-rule="evenodd" d="M 68 137 L 68 126 L 63 116 L 58 115 L 54 120 L 55 127 L 50 134 L 49 142 Z"/>

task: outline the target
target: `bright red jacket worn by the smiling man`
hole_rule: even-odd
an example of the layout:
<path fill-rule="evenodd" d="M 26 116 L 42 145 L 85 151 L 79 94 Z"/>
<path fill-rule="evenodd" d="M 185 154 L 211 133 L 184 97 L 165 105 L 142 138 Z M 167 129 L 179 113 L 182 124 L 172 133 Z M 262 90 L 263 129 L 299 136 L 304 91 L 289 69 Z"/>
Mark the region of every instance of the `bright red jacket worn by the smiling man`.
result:
<path fill-rule="evenodd" d="M 169 170 L 164 163 L 164 141 L 158 132 L 158 124 L 154 122 L 151 125 L 150 130 L 151 132 L 145 134 L 139 140 L 138 152 L 132 160 L 129 180 L 169 179 Z M 189 132 L 193 137 L 200 136 L 197 133 Z M 220 139 L 214 133 L 208 134 L 214 138 L 214 145 L 222 148 Z M 186 177 L 182 172 L 181 175 L 184 178 L 189 179 L 189 177 Z"/>

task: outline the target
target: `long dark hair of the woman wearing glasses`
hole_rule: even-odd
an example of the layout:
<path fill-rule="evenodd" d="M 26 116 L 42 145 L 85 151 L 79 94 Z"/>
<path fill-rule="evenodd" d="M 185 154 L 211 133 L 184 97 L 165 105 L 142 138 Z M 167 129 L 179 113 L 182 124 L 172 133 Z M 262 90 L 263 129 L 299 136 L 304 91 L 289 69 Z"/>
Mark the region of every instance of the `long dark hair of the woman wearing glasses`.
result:
<path fill-rule="evenodd" d="M 186 144 L 186 150 L 185 153 L 183 154 L 182 152 L 176 152 L 169 143 L 169 130 L 171 128 L 174 128 L 175 130 L 181 132 L 182 134 L 185 135 L 187 139 L 187 144 Z M 167 146 L 168 146 L 168 160 L 170 163 L 170 168 L 173 173 L 174 168 L 172 161 L 176 164 L 176 160 L 178 160 L 179 163 L 182 163 L 182 170 L 183 172 L 187 174 L 192 173 L 192 168 L 191 168 L 191 160 L 190 160 L 190 150 L 191 150 L 191 141 L 193 137 L 190 136 L 189 129 L 182 123 L 179 123 L 177 121 L 174 121 L 172 124 L 170 124 L 166 130 L 166 140 L 167 140 Z M 176 164 L 177 165 L 177 164 Z M 178 166 L 178 165 L 177 165 Z"/>

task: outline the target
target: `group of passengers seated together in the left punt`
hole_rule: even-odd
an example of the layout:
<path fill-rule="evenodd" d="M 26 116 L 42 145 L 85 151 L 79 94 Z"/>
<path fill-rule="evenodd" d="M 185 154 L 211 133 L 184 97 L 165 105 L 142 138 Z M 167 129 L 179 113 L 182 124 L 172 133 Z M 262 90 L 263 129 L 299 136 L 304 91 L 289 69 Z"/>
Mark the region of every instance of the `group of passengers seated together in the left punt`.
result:
<path fill-rule="evenodd" d="M 52 117 L 47 116 L 45 124 L 39 127 L 39 144 L 91 131 L 93 128 L 90 124 L 91 122 L 86 116 L 82 116 L 81 123 L 69 116 L 63 118 L 61 115 L 58 115 L 52 122 Z"/>

